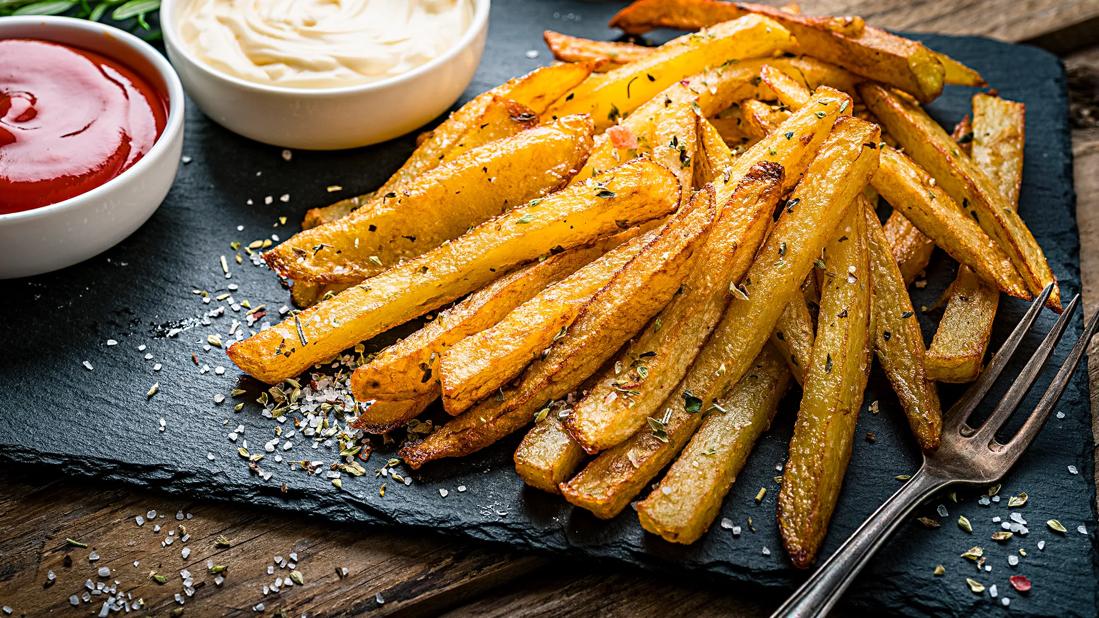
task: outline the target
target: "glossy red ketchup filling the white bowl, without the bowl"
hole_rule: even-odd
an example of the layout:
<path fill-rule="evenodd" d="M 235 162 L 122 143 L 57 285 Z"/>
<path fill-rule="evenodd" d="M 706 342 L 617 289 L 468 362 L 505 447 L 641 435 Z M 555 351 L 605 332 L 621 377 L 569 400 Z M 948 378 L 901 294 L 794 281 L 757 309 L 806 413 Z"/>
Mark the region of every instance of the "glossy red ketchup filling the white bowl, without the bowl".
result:
<path fill-rule="evenodd" d="M 45 41 L 0 41 L 0 213 L 87 192 L 159 137 L 165 98 L 133 69 Z"/>

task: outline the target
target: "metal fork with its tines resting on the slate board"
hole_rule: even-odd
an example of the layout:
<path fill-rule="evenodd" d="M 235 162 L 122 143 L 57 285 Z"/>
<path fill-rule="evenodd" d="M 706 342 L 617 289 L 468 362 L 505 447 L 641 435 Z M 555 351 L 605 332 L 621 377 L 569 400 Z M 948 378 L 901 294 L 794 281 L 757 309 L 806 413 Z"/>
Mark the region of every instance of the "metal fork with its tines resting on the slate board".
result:
<path fill-rule="evenodd" d="M 984 423 L 973 427 L 968 422 L 969 416 L 988 394 L 996 378 L 1003 372 L 1008 361 L 1019 347 L 1019 343 L 1037 319 L 1051 291 L 1053 291 L 1053 286 L 1045 288 L 1034 300 L 1015 330 L 992 356 L 980 378 L 946 412 L 943 419 L 943 438 L 939 450 L 934 453 L 924 453 L 923 465 L 912 478 L 886 500 L 878 510 L 874 511 L 874 515 L 863 522 L 854 534 L 817 569 L 817 572 L 793 593 L 793 596 L 771 615 L 773 618 L 825 616 L 840 600 L 840 596 L 847 589 L 847 586 L 855 580 L 870 556 L 889 538 L 889 534 L 925 498 L 950 485 L 995 483 L 1011 470 L 1011 466 L 1045 424 L 1046 419 L 1050 418 L 1053 406 L 1065 391 L 1068 379 L 1076 371 L 1088 341 L 1096 332 L 1097 321 L 1099 321 L 1099 314 L 1091 318 L 1080 339 L 1073 345 L 1068 357 L 1057 369 L 1057 374 L 1046 388 L 1045 395 L 1031 411 L 1030 417 L 1019 431 L 1007 440 L 1006 444 L 1000 443 L 996 439 L 997 431 L 1003 427 L 1011 412 L 1022 401 L 1037 378 L 1042 366 L 1057 346 L 1061 335 L 1064 334 L 1073 313 L 1080 304 L 1080 296 L 1076 295 L 1041 345 L 1034 351 L 1034 355 L 1015 378 L 1015 383 L 1000 399 L 996 409 Z"/>

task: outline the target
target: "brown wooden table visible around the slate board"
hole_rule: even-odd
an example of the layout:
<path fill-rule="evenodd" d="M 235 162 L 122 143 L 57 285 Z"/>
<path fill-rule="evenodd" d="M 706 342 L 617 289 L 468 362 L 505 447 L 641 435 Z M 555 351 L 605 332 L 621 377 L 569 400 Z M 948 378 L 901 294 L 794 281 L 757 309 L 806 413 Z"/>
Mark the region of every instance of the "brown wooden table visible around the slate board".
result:
<path fill-rule="evenodd" d="M 1065 58 L 1074 100 L 1077 216 L 1090 314 L 1099 305 L 1099 0 L 806 0 L 803 9 L 861 14 L 874 25 L 891 29 L 1025 42 Z M 1099 352 L 1099 344 L 1091 352 Z M 1089 375 L 1095 394 L 1099 362 L 1089 362 Z M 1092 395 L 1094 409 L 1096 402 Z M 162 547 L 164 533 L 152 531 L 154 522 L 136 525 L 136 515 L 154 509 L 156 523 L 166 530 L 186 528 L 192 552 L 186 560 L 182 543 Z M 177 521 L 177 514 L 184 519 Z M 222 537 L 230 547 L 217 547 Z M 69 551 L 66 539 L 90 548 Z M 92 548 L 100 555 L 93 563 L 88 561 Z M 275 577 L 290 578 L 291 570 L 274 565 L 273 560 L 290 561 L 291 552 L 302 583 L 264 595 L 263 586 Z M 208 573 L 208 561 L 226 567 L 220 586 Z M 40 470 L 0 472 L 0 606 L 29 616 L 73 610 L 69 595 L 82 589 L 86 580 L 99 581 L 97 571 L 104 566 L 120 591 L 142 598 L 156 615 L 247 615 L 257 611 L 257 604 L 266 614 L 287 616 L 635 616 L 669 608 L 681 615 L 765 615 L 777 604 L 625 567 L 92 486 Z M 180 606 L 174 595 L 182 593 L 179 571 L 188 566 L 195 593 Z M 273 575 L 268 566 L 275 567 Z M 47 586 L 49 571 L 56 581 Z M 151 572 L 164 574 L 167 583 L 156 583 Z"/>

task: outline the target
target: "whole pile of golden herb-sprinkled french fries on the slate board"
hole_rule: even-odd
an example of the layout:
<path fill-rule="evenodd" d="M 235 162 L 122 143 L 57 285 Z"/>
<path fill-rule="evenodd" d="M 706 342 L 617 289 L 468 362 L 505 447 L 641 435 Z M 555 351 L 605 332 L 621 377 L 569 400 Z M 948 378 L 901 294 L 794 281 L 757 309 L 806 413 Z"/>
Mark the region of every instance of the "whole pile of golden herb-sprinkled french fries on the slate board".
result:
<path fill-rule="evenodd" d="M 547 32 L 562 63 L 473 99 L 380 189 L 266 253 L 303 310 L 229 355 L 275 384 L 437 311 L 354 372 L 359 428 L 441 399 L 453 418 L 404 443 L 412 467 L 526 431 L 523 481 L 601 518 L 666 470 L 636 512 L 679 543 L 798 383 L 778 520 L 807 566 L 873 357 L 934 450 L 935 383 L 977 376 L 1000 293 L 1055 285 L 1015 211 L 1023 106 L 976 95 L 948 134 L 921 103 L 980 76 L 859 18 L 640 0 L 612 24 L 698 32 Z M 926 350 L 908 286 L 934 246 L 959 267 Z"/>

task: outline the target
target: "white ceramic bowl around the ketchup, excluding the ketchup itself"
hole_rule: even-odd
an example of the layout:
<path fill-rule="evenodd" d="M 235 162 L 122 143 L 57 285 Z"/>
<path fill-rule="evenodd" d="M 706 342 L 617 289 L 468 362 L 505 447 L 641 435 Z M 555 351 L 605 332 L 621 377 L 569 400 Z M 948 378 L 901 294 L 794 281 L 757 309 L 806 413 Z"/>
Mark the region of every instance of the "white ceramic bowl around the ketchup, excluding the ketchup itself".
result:
<path fill-rule="evenodd" d="M 160 139 L 133 167 L 57 203 L 0 214 L 0 278 L 48 273 L 118 244 L 160 206 L 184 146 L 184 89 L 168 60 L 116 27 L 56 16 L 0 19 L 0 40 L 38 38 L 97 52 L 136 70 L 168 97 Z"/>

